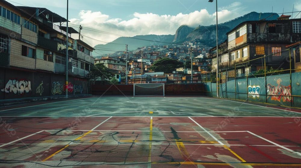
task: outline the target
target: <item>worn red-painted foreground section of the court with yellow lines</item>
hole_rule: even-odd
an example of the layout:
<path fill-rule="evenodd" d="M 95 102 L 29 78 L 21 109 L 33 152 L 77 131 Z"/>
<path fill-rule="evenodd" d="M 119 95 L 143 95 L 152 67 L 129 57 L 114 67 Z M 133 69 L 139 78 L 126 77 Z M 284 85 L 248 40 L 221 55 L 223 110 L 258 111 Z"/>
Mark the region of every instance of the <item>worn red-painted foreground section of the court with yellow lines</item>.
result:
<path fill-rule="evenodd" d="M 301 167 L 299 119 L 2 117 L 0 167 Z"/>

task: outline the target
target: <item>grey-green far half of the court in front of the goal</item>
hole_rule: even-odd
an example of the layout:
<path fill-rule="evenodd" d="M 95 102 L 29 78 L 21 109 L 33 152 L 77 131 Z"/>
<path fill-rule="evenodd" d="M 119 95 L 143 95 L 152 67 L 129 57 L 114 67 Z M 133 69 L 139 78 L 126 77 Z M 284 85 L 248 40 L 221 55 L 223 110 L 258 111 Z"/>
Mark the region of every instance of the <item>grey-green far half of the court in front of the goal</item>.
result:
<path fill-rule="evenodd" d="M 101 96 L 1 110 L 1 116 L 288 116 L 290 109 L 206 97 Z"/>

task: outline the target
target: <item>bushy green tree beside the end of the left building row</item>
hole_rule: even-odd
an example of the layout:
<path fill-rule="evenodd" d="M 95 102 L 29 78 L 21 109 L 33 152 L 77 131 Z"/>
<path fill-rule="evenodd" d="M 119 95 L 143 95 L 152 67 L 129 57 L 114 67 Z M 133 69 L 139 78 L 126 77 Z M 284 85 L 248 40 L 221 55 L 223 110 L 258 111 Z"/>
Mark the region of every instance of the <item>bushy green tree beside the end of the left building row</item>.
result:
<path fill-rule="evenodd" d="M 98 63 L 92 65 L 90 68 L 90 72 L 87 77 L 95 84 L 96 80 L 101 78 L 101 80 L 109 80 L 113 74 L 109 71 L 109 69 L 104 66 L 103 63 Z"/>

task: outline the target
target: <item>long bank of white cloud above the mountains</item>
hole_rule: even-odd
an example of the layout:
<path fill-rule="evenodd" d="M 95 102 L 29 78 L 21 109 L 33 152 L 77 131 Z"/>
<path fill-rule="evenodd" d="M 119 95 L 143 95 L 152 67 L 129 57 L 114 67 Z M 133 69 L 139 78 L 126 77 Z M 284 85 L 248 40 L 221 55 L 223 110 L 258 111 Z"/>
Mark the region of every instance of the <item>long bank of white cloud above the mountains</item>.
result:
<path fill-rule="evenodd" d="M 240 3 L 234 3 L 233 9 L 239 8 Z M 240 16 L 237 12 L 221 8 L 218 11 L 219 23 L 226 22 Z M 208 26 L 216 23 L 216 13 L 210 14 L 206 9 L 196 10 L 194 12 L 177 15 L 158 15 L 155 13 L 133 13 L 132 19 L 122 20 L 119 18 L 110 18 L 110 16 L 100 11 L 93 12 L 91 10 L 81 10 L 79 18 L 70 19 L 75 25 L 81 25 L 82 34 L 86 35 L 84 41 L 88 41 L 90 45 L 104 44 L 93 40 L 89 37 L 99 39 L 101 41 L 111 42 L 119 36 L 108 35 L 100 32 L 88 31 L 87 28 L 96 29 L 114 34 L 135 36 L 135 35 L 169 35 L 175 34 L 181 25 L 197 27 L 199 25 Z"/>

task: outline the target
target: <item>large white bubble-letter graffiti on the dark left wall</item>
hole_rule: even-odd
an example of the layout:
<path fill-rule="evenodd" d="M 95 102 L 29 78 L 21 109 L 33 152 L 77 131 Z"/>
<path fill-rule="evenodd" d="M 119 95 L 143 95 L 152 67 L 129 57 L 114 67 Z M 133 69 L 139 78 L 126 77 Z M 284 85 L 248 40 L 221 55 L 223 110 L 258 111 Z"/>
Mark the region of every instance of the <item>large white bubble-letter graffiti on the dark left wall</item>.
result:
<path fill-rule="evenodd" d="M 5 93 L 13 92 L 14 94 L 29 93 L 29 91 L 31 91 L 31 82 L 29 80 L 8 80 L 5 88 L 1 89 L 1 91 Z"/>

